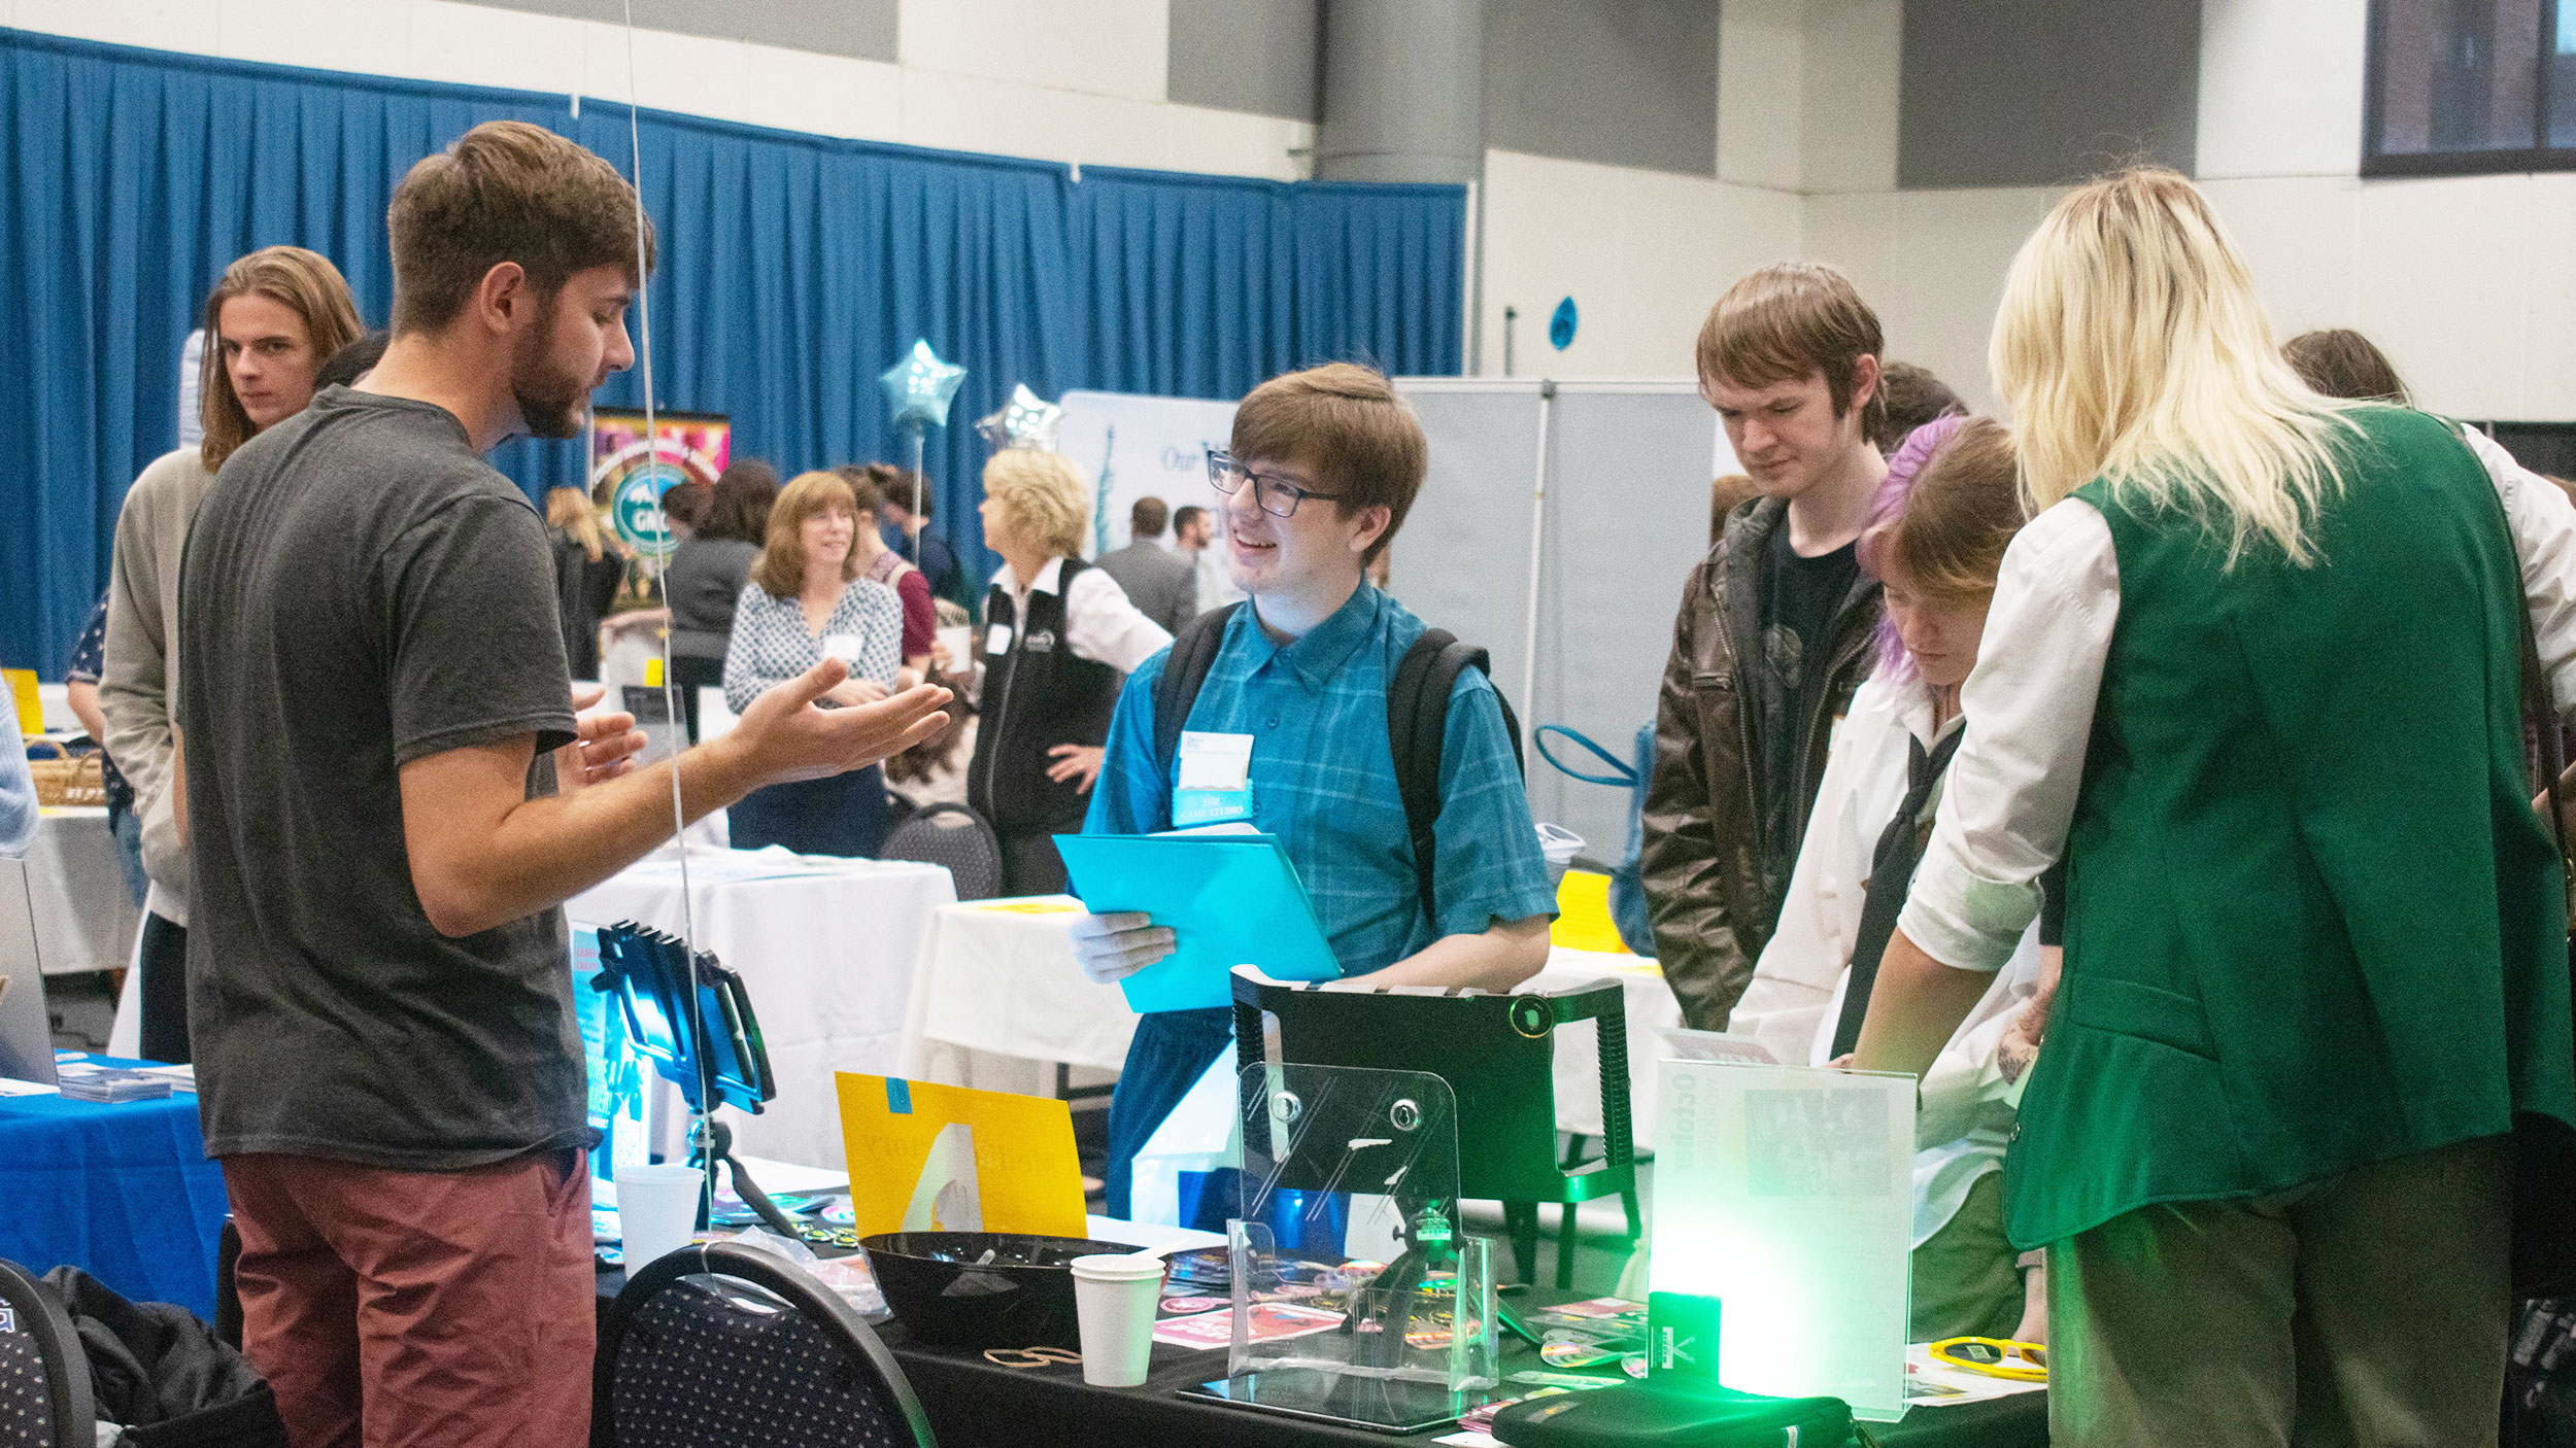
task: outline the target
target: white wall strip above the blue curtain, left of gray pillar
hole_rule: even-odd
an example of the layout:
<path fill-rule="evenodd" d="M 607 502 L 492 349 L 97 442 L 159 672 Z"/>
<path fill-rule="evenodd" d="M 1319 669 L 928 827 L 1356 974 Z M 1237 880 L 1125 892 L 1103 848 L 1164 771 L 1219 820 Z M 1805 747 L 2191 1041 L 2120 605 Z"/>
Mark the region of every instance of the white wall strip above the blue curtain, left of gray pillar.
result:
<path fill-rule="evenodd" d="M 1314 126 L 1164 98 L 1167 15 L 1167 0 L 902 0 L 902 64 L 636 31 L 634 95 L 827 137 L 1296 180 Z M 0 0 L 0 26 L 629 98 L 621 26 L 453 0 Z"/>

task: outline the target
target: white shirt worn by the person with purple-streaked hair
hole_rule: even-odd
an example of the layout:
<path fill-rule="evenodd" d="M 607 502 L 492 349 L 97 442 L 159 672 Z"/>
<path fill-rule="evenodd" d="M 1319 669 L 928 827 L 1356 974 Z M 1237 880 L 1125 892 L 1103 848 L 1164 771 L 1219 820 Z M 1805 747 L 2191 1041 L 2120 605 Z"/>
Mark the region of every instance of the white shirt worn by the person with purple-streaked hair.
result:
<path fill-rule="evenodd" d="M 1816 812 L 1788 876 L 1780 928 L 1762 948 L 1754 979 L 1726 1020 L 1728 1031 L 1762 1041 L 1780 1062 L 1821 1067 L 1832 1059 L 1842 995 L 1852 984 L 1870 858 L 1906 799 L 1909 745 L 1922 739 L 1929 750 L 1958 727 L 1960 719 L 1932 727 L 1932 693 L 1919 678 L 1870 675 L 1860 685 L 1834 729 Z M 1935 804 L 1945 786 L 1947 770 L 1942 786 L 1935 786 Z M 2030 1000 L 2038 976 L 2040 933 L 2032 925 L 1922 1080 L 1914 1116 L 1917 1247 L 1950 1224 L 1978 1177 L 2004 1165 L 2014 1092 L 1996 1051 L 2012 1010 Z"/>

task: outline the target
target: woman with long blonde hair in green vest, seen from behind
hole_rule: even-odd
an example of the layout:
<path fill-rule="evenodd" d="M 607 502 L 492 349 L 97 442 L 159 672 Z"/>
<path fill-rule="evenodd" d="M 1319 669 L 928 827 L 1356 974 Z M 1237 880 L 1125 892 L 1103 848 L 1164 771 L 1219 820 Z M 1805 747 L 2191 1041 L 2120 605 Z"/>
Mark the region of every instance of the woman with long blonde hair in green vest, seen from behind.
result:
<path fill-rule="evenodd" d="M 1855 1064 L 1922 1072 L 2063 855 L 2004 1162 L 2050 1443 L 2494 1443 L 2506 1134 L 2576 1123 L 2519 729 L 2524 616 L 2576 703 L 2576 508 L 2300 384 L 2169 170 L 2058 204 L 1991 363 L 2032 523 Z"/>

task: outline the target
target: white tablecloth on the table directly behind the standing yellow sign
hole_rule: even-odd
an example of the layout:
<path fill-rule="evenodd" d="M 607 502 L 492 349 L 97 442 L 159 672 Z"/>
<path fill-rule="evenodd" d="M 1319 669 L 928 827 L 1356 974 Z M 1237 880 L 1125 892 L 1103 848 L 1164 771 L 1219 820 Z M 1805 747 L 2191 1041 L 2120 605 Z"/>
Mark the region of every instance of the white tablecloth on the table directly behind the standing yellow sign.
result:
<path fill-rule="evenodd" d="M 729 1110 L 734 1144 L 801 1167 L 842 1167 L 832 1072 L 899 1074 L 912 974 L 933 915 L 956 902 L 940 866 L 768 850 L 690 853 L 698 948 L 742 974 L 778 1100 Z M 647 858 L 564 904 L 585 925 L 680 930 L 680 863 Z M 677 1100 L 677 1098 L 672 1098 Z"/>

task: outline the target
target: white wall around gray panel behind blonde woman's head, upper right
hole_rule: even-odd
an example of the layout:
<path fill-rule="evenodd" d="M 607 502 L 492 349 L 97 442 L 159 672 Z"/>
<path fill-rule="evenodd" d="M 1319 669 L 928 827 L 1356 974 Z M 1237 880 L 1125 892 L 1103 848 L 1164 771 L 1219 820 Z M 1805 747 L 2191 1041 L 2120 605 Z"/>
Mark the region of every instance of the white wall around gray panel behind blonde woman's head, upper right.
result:
<path fill-rule="evenodd" d="M 1808 3 L 1803 247 L 1852 271 L 1893 356 L 1994 407 L 2004 265 L 2058 193 L 1896 191 L 1899 21 Z M 2439 412 L 2576 420 L 2576 175 L 2362 180 L 2362 31 L 2357 0 L 2202 3 L 2195 170 L 2272 325 L 2360 327 Z M 1834 103 L 1878 77 L 1883 106 Z"/>

